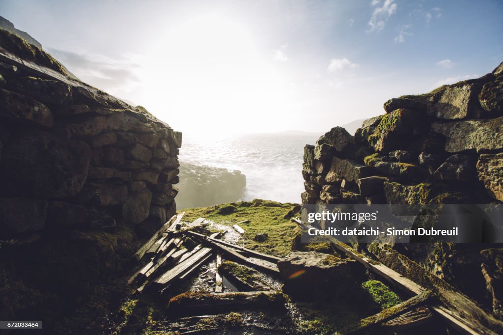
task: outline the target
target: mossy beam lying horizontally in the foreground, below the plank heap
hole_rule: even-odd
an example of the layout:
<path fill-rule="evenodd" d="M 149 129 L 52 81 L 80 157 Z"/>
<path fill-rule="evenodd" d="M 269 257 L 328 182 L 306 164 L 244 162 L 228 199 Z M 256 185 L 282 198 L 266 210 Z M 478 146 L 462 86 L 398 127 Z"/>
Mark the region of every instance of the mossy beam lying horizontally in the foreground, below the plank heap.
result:
<path fill-rule="evenodd" d="M 198 315 L 241 310 L 243 308 L 284 306 L 285 297 L 277 291 L 261 292 L 185 292 L 170 300 L 169 311 L 174 314 Z M 194 314 L 192 314 L 194 313 Z"/>

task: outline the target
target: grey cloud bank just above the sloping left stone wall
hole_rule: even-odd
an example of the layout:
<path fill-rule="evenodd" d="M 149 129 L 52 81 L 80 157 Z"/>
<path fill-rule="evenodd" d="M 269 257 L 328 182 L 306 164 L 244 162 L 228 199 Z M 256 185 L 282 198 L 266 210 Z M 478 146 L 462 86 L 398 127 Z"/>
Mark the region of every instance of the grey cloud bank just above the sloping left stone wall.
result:
<path fill-rule="evenodd" d="M 141 79 L 137 75 L 141 60 L 137 55 L 116 60 L 100 54 L 75 53 L 60 49 L 48 51 L 80 80 L 103 91 L 125 94 L 141 85 Z"/>

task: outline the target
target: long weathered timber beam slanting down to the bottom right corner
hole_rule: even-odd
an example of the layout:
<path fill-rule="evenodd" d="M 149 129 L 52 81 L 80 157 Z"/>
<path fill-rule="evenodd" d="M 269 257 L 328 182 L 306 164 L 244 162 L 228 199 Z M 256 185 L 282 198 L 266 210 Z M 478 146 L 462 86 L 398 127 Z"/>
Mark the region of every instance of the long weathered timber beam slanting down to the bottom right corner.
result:
<path fill-rule="evenodd" d="M 304 228 L 314 228 L 306 225 L 298 218 L 292 219 Z M 428 289 L 434 290 L 443 304 L 429 305 L 432 311 L 441 316 L 456 330 L 466 334 L 491 334 L 503 333 L 503 322 L 490 313 L 482 310 L 467 296 L 457 292 L 447 282 L 429 273 L 426 269 L 411 261 L 395 250 L 386 250 L 382 255 L 376 255 L 383 262 L 381 264 L 368 259 L 347 244 L 328 236 L 331 244 L 349 257 L 362 263 L 367 269 L 381 276 L 408 293 L 421 294 Z M 386 255 L 388 254 L 388 255 Z M 389 267 L 388 267 L 389 266 Z M 423 286 L 412 281 L 412 276 L 421 278 Z M 490 328 L 489 328 L 490 327 Z M 495 329 L 495 330 L 491 330 Z"/>

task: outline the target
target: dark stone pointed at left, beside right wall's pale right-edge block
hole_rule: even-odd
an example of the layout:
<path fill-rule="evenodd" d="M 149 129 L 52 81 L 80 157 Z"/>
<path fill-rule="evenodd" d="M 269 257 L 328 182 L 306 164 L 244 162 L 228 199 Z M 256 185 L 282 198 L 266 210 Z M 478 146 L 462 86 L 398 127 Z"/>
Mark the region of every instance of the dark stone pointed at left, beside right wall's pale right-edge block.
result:
<path fill-rule="evenodd" d="M 475 179 L 475 158 L 472 155 L 452 155 L 439 166 L 433 175 L 440 180 L 473 180 Z"/>

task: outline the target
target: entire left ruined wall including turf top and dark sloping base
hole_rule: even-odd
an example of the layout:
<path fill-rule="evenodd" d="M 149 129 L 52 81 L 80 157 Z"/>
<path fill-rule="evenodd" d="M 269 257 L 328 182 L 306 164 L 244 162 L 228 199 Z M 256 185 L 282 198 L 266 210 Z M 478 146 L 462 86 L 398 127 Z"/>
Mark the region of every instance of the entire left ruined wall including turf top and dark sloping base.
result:
<path fill-rule="evenodd" d="M 0 319 L 65 308 L 120 271 L 176 212 L 181 144 L 0 29 Z"/>

